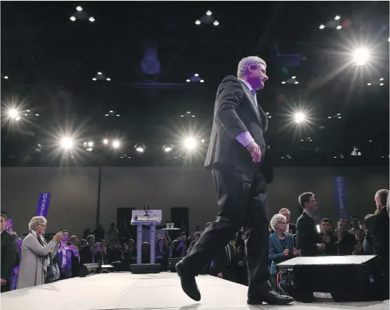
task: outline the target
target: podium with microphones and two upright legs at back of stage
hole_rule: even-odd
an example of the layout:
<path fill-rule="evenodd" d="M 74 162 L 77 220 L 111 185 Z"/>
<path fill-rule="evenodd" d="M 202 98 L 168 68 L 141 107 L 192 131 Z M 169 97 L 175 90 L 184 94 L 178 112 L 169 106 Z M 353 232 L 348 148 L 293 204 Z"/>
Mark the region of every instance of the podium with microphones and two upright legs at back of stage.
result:
<path fill-rule="evenodd" d="M 159 215 L 145 215 L 144 210 L 139 210 L 143 215 L 135 215 L 131 218 L 131 224 L 137 225 L 137 264 L 142 264 L 142 227 L 150 226 L 150 264 L 155 263 L 156 259 L 156 225 L 161 224 Z"/>

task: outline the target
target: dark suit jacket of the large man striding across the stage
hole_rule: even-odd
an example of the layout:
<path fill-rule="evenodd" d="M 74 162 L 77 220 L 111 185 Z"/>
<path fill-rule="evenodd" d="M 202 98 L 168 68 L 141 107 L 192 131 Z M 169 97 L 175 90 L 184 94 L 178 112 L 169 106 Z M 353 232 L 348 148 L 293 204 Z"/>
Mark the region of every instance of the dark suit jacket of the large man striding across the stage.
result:
<path fill-rule="evenodd" d="M 266 155 L 268 119 L 257 105 L 255 96 L 243 81 L 236 76 L 227 76 L 220 83 L 215 98 L 213 129 L 206 156 L 205 167 L 237 168 L 246 173 L 262 170 L 267 182 L 271 182 L 273 170 Z M 262 162 L 253 163 L 246 147 L 236 140 L 236 136 L 248 131 L 262 152 Z M 267 151 L 268 154 L 268 151 Z M 260 168 L 261 166 L 261 168 Z"/>

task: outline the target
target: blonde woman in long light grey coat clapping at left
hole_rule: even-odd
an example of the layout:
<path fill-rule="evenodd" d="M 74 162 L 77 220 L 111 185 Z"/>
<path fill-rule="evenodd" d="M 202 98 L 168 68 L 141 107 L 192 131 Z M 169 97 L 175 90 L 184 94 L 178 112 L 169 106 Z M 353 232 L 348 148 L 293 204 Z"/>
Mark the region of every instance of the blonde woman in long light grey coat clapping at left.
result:
<path fill-rule="evenodd" d="M 57 254 L 58 246 L 62 239 L 62 232 L 58 232 L 53 240 L 46 244 L 42 234 L 46 229 L 46 218 L 32 217 L 29 222 L 30 233 L 22 241 L 22 260 L 17 288 L 29 288 L 41 285 L 46 281 L 49 255 L 53 258 Z"/>

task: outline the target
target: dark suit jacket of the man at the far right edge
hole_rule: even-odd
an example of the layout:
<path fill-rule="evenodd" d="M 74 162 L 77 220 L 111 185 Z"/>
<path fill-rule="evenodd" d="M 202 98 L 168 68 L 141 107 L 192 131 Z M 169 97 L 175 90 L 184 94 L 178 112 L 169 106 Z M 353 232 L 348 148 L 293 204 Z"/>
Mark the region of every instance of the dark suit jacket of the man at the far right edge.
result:
<path fill-rule="evenodd" d="M 365 219 L 365 226 L 370 234 L 375 253 L 384 257 L 389 264 L 389 213 L 382 207 L 379 213 Z"/>

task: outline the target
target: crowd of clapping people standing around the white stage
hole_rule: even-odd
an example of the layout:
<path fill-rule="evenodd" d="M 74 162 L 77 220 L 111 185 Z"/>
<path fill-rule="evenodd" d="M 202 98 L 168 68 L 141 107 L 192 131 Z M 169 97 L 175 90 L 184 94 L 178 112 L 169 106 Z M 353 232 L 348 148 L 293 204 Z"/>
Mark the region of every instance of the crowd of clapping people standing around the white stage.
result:
<path fill-rule="evenodd" d="M 278 281 L 276 264 L 297 256 L 377 254 L 384 261 L 384 274 L 388 278 L 388 196 L 386 189 L 377 191 L 374 214 L 365 216 L 362 221 L 356 216 L 342 218 L 335 227 L 328 218 L 323 218 L 318 225 L 314 221 L 317 202 L 313 193 L 299 196 L 302 215 L 298 217 L 297 224 L 291 222 L 290 210 L 282 208 L 271 217 L 269 227 L 269 273 L 273 288 L 285 294 Z M 6 221 L 6 215 L 1 213 L 2 292 L 78 276 L 82 264 L 131 264 L 136 261 L 135 241 L 128 231 L 123 234 L 114 223 L 107 233 L 101 225 L 93 233 L 86 231 L 88 236 L 85 234 L 86 238 L 81 240 L 77 236 L 69 236 L 66 230 L 46 240 L 46 218 L 32 217 L 29 234 L 21 240 L 15 232 L 6 229 Z M 203 231 L 210 224 L 206 224 Z M 197 227 L 193 234 L 187 236 L 185 227 L 182 227 L 177 238 L 169 236 L 168 231 L 166 236 L 158 234 L 156 245 L 153 246 L 156 247 L 156 262 L 161 264 L 161 270 L 168 270 L 170 258 L 185 257 L 191 252 L 203 231 Z M 109 242 L 105 241 L 106 236 Z M 245 232 L 238 231 L 236 238 L 229 241 L 224 251 L 206 265 L 202 274 L 248 285 L 245 239 Z M 142 244 L 142 263 L 150 261 L 150 246 L 147 242 Z"/>

